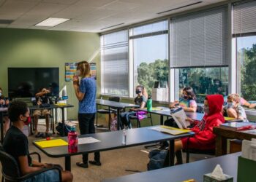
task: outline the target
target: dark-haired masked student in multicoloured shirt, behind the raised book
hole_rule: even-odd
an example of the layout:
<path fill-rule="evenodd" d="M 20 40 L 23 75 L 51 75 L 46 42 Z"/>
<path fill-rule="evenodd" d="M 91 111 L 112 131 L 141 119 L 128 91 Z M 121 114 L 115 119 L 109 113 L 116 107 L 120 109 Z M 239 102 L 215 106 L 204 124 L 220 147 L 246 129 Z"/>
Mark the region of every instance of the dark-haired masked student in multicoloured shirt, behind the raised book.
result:
<path fill-rule="evenodd" d="M 182 90 L 182 98 L 179 101 L 174 101 L 170 103 L 170 108 L 175 108 L 176 106 L 181 106 L 184 111 L 188 112 L 196 112 L 197 111 L 197 103 L 196 103 L 195 93 L 192 87 L 184 87 Z"/>

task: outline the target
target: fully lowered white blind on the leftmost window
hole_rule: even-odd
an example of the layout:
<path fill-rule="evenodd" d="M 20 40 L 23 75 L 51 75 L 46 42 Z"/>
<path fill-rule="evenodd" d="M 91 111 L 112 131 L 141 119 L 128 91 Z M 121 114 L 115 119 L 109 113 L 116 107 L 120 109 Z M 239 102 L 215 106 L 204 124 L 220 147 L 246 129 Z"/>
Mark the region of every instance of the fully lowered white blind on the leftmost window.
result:
<path fill-rule="evenodd" d="M 101 36 L 102 94 L 128 95 L 128 31 Z"/>

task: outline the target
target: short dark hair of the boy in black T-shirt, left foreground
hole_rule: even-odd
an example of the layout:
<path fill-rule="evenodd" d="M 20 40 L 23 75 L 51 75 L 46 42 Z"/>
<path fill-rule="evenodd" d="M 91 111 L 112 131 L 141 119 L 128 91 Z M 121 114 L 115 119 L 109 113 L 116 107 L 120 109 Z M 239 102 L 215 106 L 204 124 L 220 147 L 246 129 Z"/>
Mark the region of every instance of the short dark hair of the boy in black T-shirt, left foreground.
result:
<path fill-rule="evenodd" d="M 28 105 L 21 100 L 14 100 L 9 104 L 8 115 L 11 122 L 18 122 L 19 116 L 26 114 Z"/>

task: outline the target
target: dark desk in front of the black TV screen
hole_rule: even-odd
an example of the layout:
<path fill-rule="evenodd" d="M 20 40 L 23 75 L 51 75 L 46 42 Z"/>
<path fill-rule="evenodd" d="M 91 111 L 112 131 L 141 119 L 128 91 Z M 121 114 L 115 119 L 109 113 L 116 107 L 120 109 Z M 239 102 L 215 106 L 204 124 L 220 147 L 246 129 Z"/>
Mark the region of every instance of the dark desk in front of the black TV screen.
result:
<path fill-rule="evenodd" d="M 74 107 L 73 105 L 70 104 L 65 104 L 65 105 L 56 105 L 56 104 L 50 104 L 50 107 L 39 107 L 39 106 L 29 106 L 29 110 L 31 110 L 32 112 L 35 110 L 43 110 L 43 109 L 50 109 L 53 110 L 53 108 L 57 109 L 57 108 L 61 108 L 61 119 L 62 119 L 62 124 L 65 124 L 65 117 L 64 117 L 64 108 L 71 108 Z M 53 122 L 54 123 L 54 122 Z M 64 130 L 64 127 L 63 127 Z M 32 126 L 31 126 L 31 131 L 32 131 Z M 54 132 L 54 125 L 53 125 L 53 132 Z M 64 133 L 64 131 L 63 131 Z"/>

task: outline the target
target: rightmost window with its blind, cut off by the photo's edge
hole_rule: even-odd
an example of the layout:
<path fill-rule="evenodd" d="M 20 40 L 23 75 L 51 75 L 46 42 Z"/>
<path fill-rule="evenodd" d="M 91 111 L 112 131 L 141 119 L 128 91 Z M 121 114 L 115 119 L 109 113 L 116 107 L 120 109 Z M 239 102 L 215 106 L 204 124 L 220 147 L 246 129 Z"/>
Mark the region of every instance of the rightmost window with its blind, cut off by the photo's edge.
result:
<path fill-rule="evenodd" d="M 233 4 L 233 38 L 236 39 L 237 92 L 256 100 L 256 1 Z"/>

